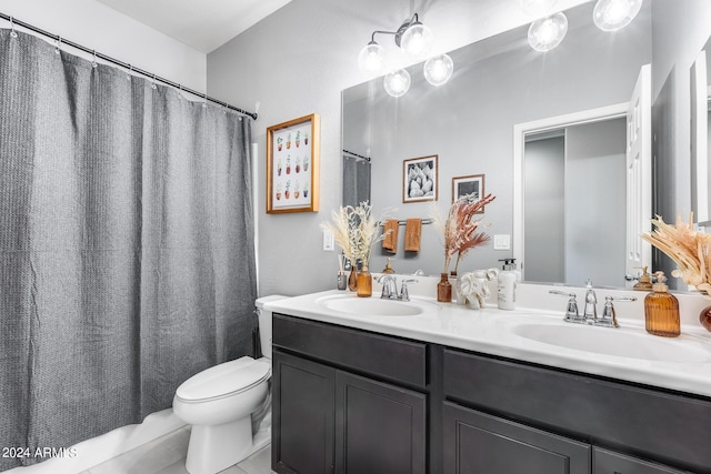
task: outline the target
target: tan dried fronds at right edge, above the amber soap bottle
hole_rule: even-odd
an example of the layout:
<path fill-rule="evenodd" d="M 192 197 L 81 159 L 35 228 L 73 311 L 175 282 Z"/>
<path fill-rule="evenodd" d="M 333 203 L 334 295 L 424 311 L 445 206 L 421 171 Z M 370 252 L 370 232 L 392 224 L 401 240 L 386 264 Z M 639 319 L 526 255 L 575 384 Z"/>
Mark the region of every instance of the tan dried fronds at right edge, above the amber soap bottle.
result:
<path fill-rule="evenodd" d="M 689 222 L 678 218 L 675 226 L 659 215 L 651 222 L 657 229 L 651 234 L 642 234 L 642 239 L 677 263 L 673 276 L 711 297 L 711 234 L 693 230 L 693 215 L 689 215 Z"/>

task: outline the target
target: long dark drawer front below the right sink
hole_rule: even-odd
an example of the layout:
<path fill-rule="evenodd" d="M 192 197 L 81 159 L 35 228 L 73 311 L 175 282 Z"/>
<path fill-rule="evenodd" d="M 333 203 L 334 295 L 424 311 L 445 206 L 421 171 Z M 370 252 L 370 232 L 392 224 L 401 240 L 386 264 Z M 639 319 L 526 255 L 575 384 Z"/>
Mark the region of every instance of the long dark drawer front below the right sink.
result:
<path fill-rule="evenodd" d="M 592 444 L 711 472 L 705 399 L 449 349 L 444 395 Z"/>

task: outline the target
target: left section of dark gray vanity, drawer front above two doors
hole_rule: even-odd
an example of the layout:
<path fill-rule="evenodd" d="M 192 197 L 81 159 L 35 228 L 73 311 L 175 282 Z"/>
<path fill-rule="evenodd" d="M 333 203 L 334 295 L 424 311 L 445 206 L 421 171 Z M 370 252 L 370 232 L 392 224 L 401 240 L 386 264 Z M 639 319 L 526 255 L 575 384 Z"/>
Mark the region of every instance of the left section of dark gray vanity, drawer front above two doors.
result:
<path fill-rule="evenodd" d="M 272 331 L 274 471 L 428 472 L 427 344 L 281 314 Z"/>

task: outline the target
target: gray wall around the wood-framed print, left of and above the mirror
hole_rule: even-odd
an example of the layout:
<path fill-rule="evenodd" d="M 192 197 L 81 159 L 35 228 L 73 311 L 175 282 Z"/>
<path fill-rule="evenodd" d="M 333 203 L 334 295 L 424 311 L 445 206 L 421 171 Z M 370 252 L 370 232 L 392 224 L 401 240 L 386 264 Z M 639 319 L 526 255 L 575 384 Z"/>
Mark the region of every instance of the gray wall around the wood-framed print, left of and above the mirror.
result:
<path fill-rule="evenodd" d="M 561 0 L 558 6 L 583 1 Z M 372 31 L 395 29 L 417 11 L 435 34 L 435 50 L 444 52 L 531 21 L 518 4 L 519 0 L 293 0 L 208 56 L 211 95 L 242 107 L 261 102 L 253 128 L 262 186 L 256 202 L 261 294 L 334 288 L 336 254 L 321 250 L 319 223 L 341 203 L 341 90 L 370 79 L 359 71 L 357 58 Z M 394 51 L 387 39 L 383 44 Z M 266 129 L 312 112 L 321 115 L 321 211 L 268 215 Z"/>

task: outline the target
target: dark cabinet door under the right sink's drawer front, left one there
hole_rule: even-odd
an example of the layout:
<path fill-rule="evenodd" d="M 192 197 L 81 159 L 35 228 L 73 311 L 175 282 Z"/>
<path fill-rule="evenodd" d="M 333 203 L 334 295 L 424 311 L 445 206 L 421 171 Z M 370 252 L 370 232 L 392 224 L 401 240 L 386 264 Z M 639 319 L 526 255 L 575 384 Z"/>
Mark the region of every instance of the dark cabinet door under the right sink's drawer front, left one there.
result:
<path fill-rule="evenodd" d="M 589 474 L 590 445 L 444 402 L 443 472 Z"/>

